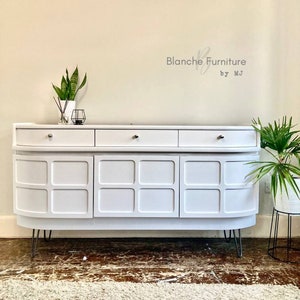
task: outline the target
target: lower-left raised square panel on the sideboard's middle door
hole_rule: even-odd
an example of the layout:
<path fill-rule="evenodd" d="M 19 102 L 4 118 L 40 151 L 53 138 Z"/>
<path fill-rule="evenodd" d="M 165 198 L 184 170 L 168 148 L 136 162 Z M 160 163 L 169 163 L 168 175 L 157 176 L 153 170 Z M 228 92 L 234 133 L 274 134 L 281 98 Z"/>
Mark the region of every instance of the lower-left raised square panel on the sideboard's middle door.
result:
<path fill-rule="evenodd" d="M 131 213 L 134 211 L 133 189 L 101 189 L 98 196 L 99 212 Z"/>

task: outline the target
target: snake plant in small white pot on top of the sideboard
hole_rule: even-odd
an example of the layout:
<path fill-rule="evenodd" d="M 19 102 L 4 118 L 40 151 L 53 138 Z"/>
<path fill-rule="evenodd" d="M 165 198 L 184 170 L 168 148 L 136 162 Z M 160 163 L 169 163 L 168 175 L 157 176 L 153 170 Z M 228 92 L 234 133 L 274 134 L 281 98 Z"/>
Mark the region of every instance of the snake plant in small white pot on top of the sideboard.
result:
<path fill-rule="evenodd" d="M 62 76 L 60 87 L 52 83 L 53 89 L 57 94 L 57 99 L 55 97 L 54 101 L 60 111 L 60 123 L 68 124 L 71 119 L 71 114 L 73 109 L 75 109 L 75 98 L 80 89 L 82 89 L 87 82 L 87 75 L 81 83 L 79 83 L 78 67 L 74 70 L 71 77 L 69 76 L 68 69 L 66 69 L 66 75 Z"/>

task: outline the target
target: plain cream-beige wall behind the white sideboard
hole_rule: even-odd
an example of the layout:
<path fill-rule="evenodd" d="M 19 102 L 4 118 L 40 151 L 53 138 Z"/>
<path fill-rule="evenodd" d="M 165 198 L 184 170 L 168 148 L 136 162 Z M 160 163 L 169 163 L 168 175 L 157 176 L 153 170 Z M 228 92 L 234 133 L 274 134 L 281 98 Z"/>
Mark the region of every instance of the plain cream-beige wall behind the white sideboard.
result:
<path fill-rule="evenodd" d="M 18 230 L 7 225 L 12 123 L 57 122 L 51 83 L 66 67 L 88 73 L 79 99 L 88 123 L 298 121 L 299 11 L 297 0 L 0 0 L 0 236 Z M 246 65 L 167 65 L 205 61 L 207 49 Z M 261 198 L 263 218 L 269 195 Z"/>

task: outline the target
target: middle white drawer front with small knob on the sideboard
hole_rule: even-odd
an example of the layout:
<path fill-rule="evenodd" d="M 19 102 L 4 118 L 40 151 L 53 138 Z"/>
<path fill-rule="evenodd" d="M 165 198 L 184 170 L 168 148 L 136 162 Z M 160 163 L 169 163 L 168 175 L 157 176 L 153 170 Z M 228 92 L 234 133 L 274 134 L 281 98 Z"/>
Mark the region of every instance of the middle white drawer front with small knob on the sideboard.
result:
<path fill-rule="evenodd" d="M 177 130 L 97 130 L 96 146 L 177 147 Z"/>

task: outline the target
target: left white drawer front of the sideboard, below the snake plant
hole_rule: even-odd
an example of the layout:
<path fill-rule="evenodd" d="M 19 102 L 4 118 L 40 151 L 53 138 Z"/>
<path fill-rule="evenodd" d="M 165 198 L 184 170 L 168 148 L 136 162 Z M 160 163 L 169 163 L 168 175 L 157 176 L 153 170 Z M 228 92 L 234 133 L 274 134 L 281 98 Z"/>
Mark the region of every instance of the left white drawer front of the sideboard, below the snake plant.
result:
<path fill-rule="evenodd" d="M 24 146 L 94 146 L 94 130 L 17 129 L 16 143 Z"/>

